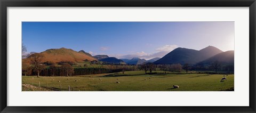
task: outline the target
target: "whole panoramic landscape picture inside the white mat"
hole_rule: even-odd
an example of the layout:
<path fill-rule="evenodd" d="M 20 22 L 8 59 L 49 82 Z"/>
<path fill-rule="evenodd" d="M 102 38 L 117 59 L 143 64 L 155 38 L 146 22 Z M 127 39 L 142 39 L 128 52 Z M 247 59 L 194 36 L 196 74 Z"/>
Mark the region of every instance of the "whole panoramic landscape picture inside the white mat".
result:
<path fill-rule="evenodd" d="M 22 22 L 22 91 L 234 91 L 234 22 Z"/>

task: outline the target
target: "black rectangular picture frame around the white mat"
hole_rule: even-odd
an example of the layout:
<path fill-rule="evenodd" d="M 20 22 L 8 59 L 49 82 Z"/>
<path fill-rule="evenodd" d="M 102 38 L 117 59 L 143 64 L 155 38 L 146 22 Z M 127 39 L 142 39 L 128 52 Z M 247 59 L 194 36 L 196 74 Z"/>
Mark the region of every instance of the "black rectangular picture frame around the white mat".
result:
<path fill-rule="evenodd" d="M 255 112 L 255 0 L 0 0 L 0 112 Z M 250 7 L 249 107 L 10 107 L 7 106 L 7 7 Z M 18 96 L 18 95 L 17 95 Z"/>

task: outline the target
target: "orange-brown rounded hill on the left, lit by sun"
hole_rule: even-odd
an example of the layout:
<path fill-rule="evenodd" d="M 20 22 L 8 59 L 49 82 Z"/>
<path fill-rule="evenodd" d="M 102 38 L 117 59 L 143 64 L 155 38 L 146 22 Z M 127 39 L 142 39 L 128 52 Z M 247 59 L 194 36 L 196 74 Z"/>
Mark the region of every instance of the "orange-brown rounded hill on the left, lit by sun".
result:
<path fill-rule="evenodd" d="M 84 53 L 79 53 L 77 51 L 66 49 L 64 47 L 60 49 L 49 49 L 40 54 L 44 55 L 43 62 L 52 61 L 52 62 L 60 62 L 60 61 L 72 61 L 72 62 L 83 62 L 84 60 L 96 60 L 92 56 L 89 56 Z"/>

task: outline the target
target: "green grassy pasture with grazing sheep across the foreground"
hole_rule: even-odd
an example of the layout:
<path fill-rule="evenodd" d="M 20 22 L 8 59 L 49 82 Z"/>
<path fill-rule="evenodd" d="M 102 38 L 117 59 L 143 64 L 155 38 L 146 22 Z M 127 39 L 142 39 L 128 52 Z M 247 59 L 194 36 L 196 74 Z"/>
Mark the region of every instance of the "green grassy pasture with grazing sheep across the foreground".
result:
<path fill-rule="evenodd" d="M 125 71 L 113 74 L 72 77 L 22 76 L 22 91 L 233 91 L 234 75 L 220 82 L 223 75 L 185 74 L 184 72 Z M 39 82 L 40 86 L 39 87 Z M 117 83 L 119 82 L 119 83 Z M 47 85 L 46 85 L 47 84 Z M 179 88 L 173 88 L 179 85 Z M 48 86 L 48 87 L 47 87 Z"/>

